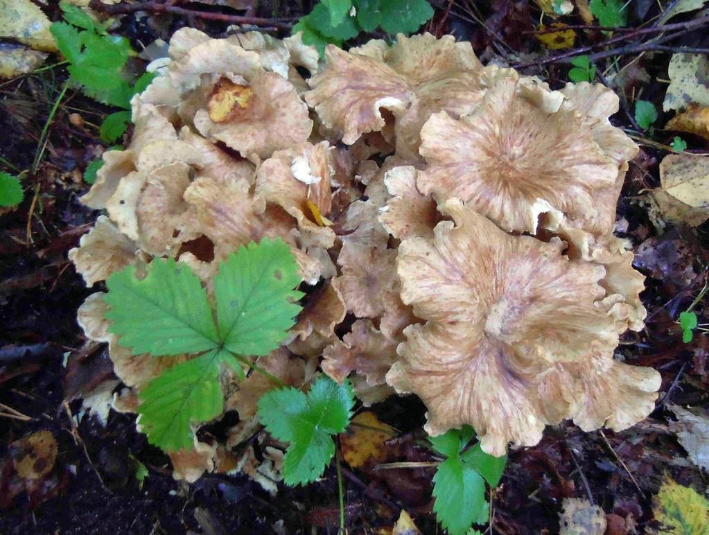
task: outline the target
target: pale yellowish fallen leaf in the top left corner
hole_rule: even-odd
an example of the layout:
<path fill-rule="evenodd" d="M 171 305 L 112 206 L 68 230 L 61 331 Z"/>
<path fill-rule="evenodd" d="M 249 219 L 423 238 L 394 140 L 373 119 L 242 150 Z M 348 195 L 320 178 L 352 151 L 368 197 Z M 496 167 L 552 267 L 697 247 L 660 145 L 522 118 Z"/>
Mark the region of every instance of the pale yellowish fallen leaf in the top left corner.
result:
<path fill-rule="evenodd" d="M 37 50 L 55 52 L 51 22 L 30 0 L 0 0 L 0 37 L 11 37 Z"/>

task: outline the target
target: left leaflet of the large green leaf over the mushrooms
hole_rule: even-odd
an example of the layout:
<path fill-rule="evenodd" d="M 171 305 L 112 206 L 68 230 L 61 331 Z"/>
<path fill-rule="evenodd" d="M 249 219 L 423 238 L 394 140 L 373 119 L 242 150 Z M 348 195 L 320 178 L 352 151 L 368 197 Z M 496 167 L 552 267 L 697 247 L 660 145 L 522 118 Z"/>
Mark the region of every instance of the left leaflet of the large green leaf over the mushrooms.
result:
<path fill-rule="evenodd" d="M 143 279 L 128 266 L 106 281 L 106 318 L 134 355 L 198 353 L 219 345 L 207 292 L 188 266 L 155 259 Z"/>

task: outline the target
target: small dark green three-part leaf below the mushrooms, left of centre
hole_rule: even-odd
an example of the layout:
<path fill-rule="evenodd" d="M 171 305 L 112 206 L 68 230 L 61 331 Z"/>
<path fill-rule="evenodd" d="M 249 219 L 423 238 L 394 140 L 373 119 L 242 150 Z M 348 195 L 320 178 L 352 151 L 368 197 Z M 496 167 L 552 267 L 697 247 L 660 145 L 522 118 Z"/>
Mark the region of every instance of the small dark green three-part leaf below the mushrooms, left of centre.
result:
<path fill-rule="evenodd" d="M 286 485 L 304 485 L 323 475 L 335 455 L 332 436 L 345 431 L 353 405 L 350 381 L 338 385 L 328 376 L 318 377 L 307 394 L 280 388 L 262 396 L 258 415 L 266 430 L 289 442 L 281 470 Z"/>

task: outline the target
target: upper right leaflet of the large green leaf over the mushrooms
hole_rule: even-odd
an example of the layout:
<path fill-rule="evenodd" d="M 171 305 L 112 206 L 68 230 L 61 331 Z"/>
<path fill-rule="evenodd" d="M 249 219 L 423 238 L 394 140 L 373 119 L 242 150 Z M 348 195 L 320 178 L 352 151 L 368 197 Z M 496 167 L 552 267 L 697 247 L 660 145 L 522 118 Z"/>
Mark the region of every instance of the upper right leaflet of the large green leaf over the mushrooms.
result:
<path fill-rule="evenodd" d="M 229 351 L 267 355 L 281 344 L 301 307 L 298 264 L 283 240 L 251 242 L 214 277 L 219 335 Z"/>

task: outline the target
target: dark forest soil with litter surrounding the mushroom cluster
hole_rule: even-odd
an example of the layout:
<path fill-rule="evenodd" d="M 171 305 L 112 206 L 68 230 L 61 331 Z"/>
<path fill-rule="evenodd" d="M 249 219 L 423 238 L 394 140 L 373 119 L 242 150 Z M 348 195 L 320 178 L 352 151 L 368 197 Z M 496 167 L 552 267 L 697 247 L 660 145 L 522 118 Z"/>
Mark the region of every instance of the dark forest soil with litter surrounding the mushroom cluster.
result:
<path fill-rule="evenodd" d="M 513 15 L 530 9 L 526 2 L 496 4 L 507 6 Z M 510 5 L 518 11 L 510 11 Z M 443 33 L 457 29 L 469 35 L 476 52 L 489 41 L 471 25 L 461 26 L 459 19 L 452 18 L 445 26 L 440 18 L 438 13 L 434 19 L 437 29 Z M 497 21 L 501 35 L 513 48 L 533 47 L 514 43 L 515 35 L 519 37 L 515 20 L 510 15 Z M 150 35 L 153 30 L 130 16 L 121 28 L 133 39 L 149 42 L 155 38 Z M 658 55 L 647 60 L 645 67 L 666 78 L 667 61 L 666 55 Z M 50 73 L 2 88 L 0 152 L 19 169 L 30 166 L 52 97 L 65 76 L 61 69 Z M 552 87 L 562 84 L 553 65 L 547 73 L 537 69 L 537 74 L 551 77 Z M 646 98 L 664 91 L 656 85 L 647 86 Z M 99 215 L 78 198 L 88 188 L 81 171 L 94 159 L 101 142 L 95 131 L 87 133 L 69 122 L 74 108 L 96 122 L 106 113 L 78 93 L 65 101 L 52 122 L 48 154 L 31 177 L 33 187 L 27 189 L 26 200 L 16 210 L 0 213 L 0 403 L 28 417 L 0 419 L 0 534 L 336 533 L 339 509 L 334 467 L 307 488 L 279 486 L 275 497 L 245 475 L 207 474 L 187 485 L 173 480 L 169 459 L 135 431 L 133 417 L 111 412 L 105 427 L 95 417 L 79 418 L 80 398 L 111 378 L 111 364 L 104 347 L 84 345 L 76 310 L 92 291 L 67 260 L 68 250 Z M 623 112 L 614 119 L 616 125 L 630 126 Z M 708 404 L 707 340 L 698 334 L 691 344 L 681 344 L 676 325 L 677 315 L 705 280 L 708 228 L 679 225 L 656 237 L 647 207 L 637 202 L 637 196 L 643 188 L 659 184 L 657 164 L 662 155 L 644 147 L 641 157 L 631 164 L 618 206 L 618 219 L 624 222 L 620 235 L 629 237 L 636 247 L 647 246 L 636 267 L 648 276 L 642 294 L 647 328 L 627 334 L 619 352 L 630 364 L 653 366 L 661 372 L 657 409 L 622 433 L 586 434 L 563 424 L 547 429 L 537 446 L 511 451 L 493 499 L 496 531 L 558 532 L 564 497 L 583 497 L 607 514 L 617 515 L 625 526 L 637 524 L 642 532 L 654 525 L 652 496 L 665 473 L 683 485 L 706 488 L 706 480 L 687 461 L 686 452 L 668 429 L 674 417 L 667 405 Z M 35 187 L 38 194 L 33 203 Z M 696 311 L 703 316 L 703 305 Z M 701 322 L 705 320 L 700 318 Z M 402 432 L 406 447 L 398 460 L 427 458 L 415 442 L 423 439 L 424 409 L 418 400 L 391 398 L 376 405 L 374 412 Z M 11 445 L 41 429 L 55 437 L 57 459 L 41 484 L 27 492 L 13 475 Z M 149 471 L 142 488 L 135 478 L 138 461 Z M 425 533 L 437 532 L 432 517 L 425 515 L 431 507 L 431 476 L 426 468 L 386 474 L 345 469 L 350 532 L 391 528 L 401 508 L 411 512 Z"/>

